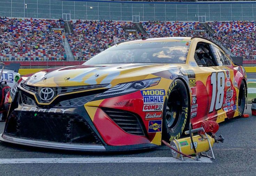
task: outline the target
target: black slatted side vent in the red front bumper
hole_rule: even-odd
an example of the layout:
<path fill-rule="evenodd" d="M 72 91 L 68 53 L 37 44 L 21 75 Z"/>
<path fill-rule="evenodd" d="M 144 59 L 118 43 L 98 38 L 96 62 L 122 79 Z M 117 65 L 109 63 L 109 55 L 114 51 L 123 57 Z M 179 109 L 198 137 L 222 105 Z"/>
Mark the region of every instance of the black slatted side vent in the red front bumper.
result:
<path fill-rule="evenodd" d="M 102 110 L 126 133 L 145 136 L 141 120 L 138 115 L 117 109 L 102 108 Z"/>

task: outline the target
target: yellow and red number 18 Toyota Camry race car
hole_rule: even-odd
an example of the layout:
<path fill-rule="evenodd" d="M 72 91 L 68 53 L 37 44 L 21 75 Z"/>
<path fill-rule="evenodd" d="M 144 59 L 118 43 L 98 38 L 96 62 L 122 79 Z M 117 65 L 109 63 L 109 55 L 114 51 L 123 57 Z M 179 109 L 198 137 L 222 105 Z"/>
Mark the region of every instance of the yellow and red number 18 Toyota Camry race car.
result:
<path fill-rule="evenodd" d="M 78 66 L 22 77 L 1 141 L 84 151 L 137 150 L 180 138 L 189 122 L 243 114 L 247 77 L 200 37 L 117 43 Z"/>

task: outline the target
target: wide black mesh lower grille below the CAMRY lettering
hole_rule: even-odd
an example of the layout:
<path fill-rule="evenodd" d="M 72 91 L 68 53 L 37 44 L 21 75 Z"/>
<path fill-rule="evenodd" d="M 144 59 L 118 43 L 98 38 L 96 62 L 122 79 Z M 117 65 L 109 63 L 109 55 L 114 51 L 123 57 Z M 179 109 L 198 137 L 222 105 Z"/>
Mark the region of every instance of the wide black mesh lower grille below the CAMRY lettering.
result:
<path fill-rule="evenodd" d="M 88 123 L 74 114 L 13 111 L 5 133 L 48 142 L 102 144 Z"/>

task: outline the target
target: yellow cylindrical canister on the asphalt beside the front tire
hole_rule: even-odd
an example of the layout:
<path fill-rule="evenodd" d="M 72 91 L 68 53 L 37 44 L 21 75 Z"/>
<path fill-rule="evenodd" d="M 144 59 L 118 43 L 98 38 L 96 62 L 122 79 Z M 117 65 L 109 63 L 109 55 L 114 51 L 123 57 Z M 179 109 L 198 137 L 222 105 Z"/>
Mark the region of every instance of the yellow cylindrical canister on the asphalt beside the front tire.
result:
<path fill-rule="evenodd" d="M 213 146 L 213 144 L 215 143 L 215 139 L 212 138 L 211 136 L 208 135 L 208 138 L 210 140 L 210 144 L 211 146 Z M 179 149 L 179 145 L 177 143 L 180 144 L 180 148 L 181 148 L 181 151 Z M 194 154 L 194 149 L 193 149 L 193 146 L 192 146 L 192 142 L 191 142 L 191 138 L 190 137 L 186 137 L 186 138 L 180 138 L 180 139 L 174 139 L 171 141 L 170 145 L 182 152 L 182 153 L 185 153 L 187 155 L 191 155 L 191 154 Z M 199 152 L 205 152 L 205 151 L 209 151 L 210 150 L 210 146 L 209 146 L 209 143 L 208 143 L 208 140 L 207 138 L 202 138 L 201 136 L 199 135 L 196 135 L 196 136 L 193 136 L 193 142 L 194 142 L 194 145 L 195 145 L 195 149 L 196 149 L 196 152 L 199 153 Z M 180 158 L 180 154 L 177 153 L 176 151 L 174 150 L 171 150 L 172 152 L 172 155 L 174 158 Z"/>

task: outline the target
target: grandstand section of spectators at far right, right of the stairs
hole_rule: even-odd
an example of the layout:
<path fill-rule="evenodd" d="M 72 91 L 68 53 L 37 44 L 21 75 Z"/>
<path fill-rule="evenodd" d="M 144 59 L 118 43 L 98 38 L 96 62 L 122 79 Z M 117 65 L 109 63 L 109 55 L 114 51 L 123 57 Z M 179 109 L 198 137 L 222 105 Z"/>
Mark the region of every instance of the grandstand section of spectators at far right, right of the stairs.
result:
<path fill-rule="evenodd" d="M 213 32 L 211 37 L 220 41 L 224 47 L 236 56 L 247 56 L 255 59 L 256 55 L 256 22 L 230 21 L 209 23 Z"/>

